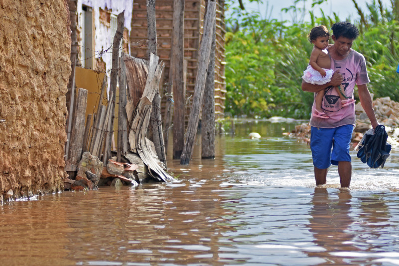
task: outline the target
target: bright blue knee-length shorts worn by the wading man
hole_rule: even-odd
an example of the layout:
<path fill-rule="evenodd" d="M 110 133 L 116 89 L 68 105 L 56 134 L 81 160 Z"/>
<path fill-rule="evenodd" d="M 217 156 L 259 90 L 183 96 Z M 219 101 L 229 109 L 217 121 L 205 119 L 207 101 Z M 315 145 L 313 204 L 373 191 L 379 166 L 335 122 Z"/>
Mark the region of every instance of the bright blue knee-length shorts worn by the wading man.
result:
<path fill-rule="evenodd" d="M 327 169 L 339 161 L 351 162 L 349 145 L 351 143 L 353 125 L 343 125 L 337 128 L 317 128 L 310 130 L 310 149 L 313 165 L 318 169 Z"/>

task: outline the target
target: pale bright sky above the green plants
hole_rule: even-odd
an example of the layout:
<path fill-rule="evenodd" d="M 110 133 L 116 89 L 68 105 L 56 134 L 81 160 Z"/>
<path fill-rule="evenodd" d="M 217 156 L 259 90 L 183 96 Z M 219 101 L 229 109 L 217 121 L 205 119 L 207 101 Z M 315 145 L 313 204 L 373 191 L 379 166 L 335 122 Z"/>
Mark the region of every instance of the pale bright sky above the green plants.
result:
<path fill-rule="evenodd" d="M 390 0 L 381 0 L 381 1 L 383 3 L 384 7 L 391 9 Z M 245 1 L 244 1 L 244 4 L 245 4 L 245 8 L 247 9 L 247 11 L 260 10 L 260 13 L 262 14 L 263 18 L 265 18 L 266 9 L 268 8 L 267 14 L 270 15 L 271 7 L 273 7 L 272 13 L 271 13 L 271 18 L 275 18 L 277 20 L 290 20 L 290 21 L 292 20 L 292 14 L 281 12 L 281 9 L 287 8 L 291 5 L 293 5 L 294 0 L 263 0 L 263 2 L 264 2 L 263 5 L 260 5 L 260 6 L 258 6 L 255 3 L 250 4 Z M 366 10 L 367 10 L 366 3 L 371 3 L 372 0 L 356 0 L 356 2 L 358 3 L 360 9 L 363 12 L 366 12 Z M 376 0 L 376 2 L 377 2 L 377 0 Z M 305 2 L 305 4 L 306 4 L 305 8 L 307 10 L 312 10 L 312 7 L 311 7 L 312 0 L 307 0 Z M 300 2 L 299 4 L 297 4 L 297 7 L 303 7 L 303 2 Z M 333 17 L 333 12 L 335 12 L 341 20 L 345 20 L 348 17 L 350 17 L 351 21 L 353 21 L 354 19 L 355 20 L 359 19 L 359 15 L 357 13 L 355 5 L 353 4 L 353 2 L 351 0 L 327 0 L 326 2 L 324 2 L 321 5 L 316 5 L 313 8 L 313 11 L 314 11 L 316 17 L 321 16 L 320 8 L 323 9 L 324 14 L 327 16 Z M 310 16 L 308 15 L 309 13 L 308 12 L 306 12 L 306 13 L 307 13 L 307 15 L 304 17 L 304 19 L 305 19 L 305 21 L 310 21 Z M 368 12 L 366 12 L 366 13 L 368 13 Z"/>

